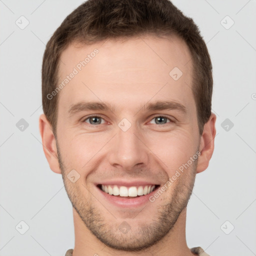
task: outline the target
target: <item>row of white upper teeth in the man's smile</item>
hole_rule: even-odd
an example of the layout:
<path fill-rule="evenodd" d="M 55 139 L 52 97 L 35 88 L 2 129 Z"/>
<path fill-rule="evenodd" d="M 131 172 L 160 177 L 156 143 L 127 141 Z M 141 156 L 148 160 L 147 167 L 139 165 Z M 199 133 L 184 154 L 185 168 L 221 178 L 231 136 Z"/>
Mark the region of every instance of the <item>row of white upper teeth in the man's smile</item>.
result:
<path fill-rule="evenodd" d="M 155 185 L 146 185 L 146 186 L 120 186 L 117 185 L 101 185 L 101 190 L 111 195 L 120 195 L 120 196 L 131 196 L 135 197 L 137 195 L 146 195 L 153 191 Z"/>

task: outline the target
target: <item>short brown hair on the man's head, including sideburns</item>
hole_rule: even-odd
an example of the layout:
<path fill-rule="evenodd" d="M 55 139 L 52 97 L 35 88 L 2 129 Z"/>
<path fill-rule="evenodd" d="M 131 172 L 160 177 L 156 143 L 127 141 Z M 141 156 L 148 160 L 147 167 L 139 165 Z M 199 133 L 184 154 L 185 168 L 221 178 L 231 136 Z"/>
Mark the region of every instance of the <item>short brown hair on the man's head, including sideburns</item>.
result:
<path fill-rule="evenodd" d="M 192 56 L 192 92 L 201 135 L 211 114 L 211 60 L 197 25 L 169 0 L 87 0 L 63 20 L 47 42 L 42 61 L 42 107 L 54 135 L 58 95 L 47 95 L 57 87 L 60 55 L 71 42 L 173 33 L 186 42 Z"/>

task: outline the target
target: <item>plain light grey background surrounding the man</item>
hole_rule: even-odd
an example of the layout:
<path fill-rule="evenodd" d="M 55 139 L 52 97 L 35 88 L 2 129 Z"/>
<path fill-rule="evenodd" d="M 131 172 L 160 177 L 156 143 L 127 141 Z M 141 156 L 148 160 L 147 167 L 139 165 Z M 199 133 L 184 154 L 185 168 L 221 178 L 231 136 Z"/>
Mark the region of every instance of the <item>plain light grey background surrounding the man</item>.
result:
<path fill-rule="evenodd" d="M 63 256 L 74 244 L 71 203 L 44 156 L 38 116 L 45 44 L 80 3 L 0 0 L 1 256 Z M 217 115 L 214 153 L 197 174 L 188 203 L 187 244 L 210 256 L 256 255 L 256 1 L 173 3 L 194 19 L 207 42 Z M 24 29 L 15 23 L 25 24 L 21 15 L 29 21 Z M 234 21 L 229 29 L 226 15 Z M 16 126 L 21 118 L 29 124 L 23 131 Z M 221 126 L 226 118 L 234 124 L 228 131 Z M 25 230 L 21 220 L 29 226 L 24 234 L 18 232 Z"/>

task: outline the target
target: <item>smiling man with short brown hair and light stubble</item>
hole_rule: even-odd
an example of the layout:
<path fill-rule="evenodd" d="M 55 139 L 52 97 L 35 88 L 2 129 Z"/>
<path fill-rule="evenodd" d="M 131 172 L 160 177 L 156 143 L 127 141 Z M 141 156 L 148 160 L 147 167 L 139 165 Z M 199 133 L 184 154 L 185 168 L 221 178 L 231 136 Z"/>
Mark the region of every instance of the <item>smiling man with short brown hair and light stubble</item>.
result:
<path fill-rule="evenodd" d="M 212 67 L 168 0 L 88 0 L 46 45 L 39 128 L 73 206 L 66 256 L 208 255 L 186 205 L 213 153 Z"/>

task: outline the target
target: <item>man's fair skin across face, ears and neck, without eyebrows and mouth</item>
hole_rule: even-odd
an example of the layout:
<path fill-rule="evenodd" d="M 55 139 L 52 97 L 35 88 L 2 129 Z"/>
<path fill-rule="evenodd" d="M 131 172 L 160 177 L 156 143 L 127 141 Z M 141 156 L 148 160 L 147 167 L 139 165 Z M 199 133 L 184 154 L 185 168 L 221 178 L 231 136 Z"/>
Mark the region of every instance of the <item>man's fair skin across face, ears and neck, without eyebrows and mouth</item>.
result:
<path fill-rule="evenodd" d="M 73 42 L 61 54 L 59 81 L 95 48 L 95 57 L 58 92 L 56 136 L 45 115 L 39 118 L 45 156 L 51 170 L 62 174 L 73 205 L 73 256 L 193 255 L 185 237 L 186 205 L 196 173 L 207 168 L 213 153 L 216 115 L 211 113 L 200 136 L 189 49 L 176 36 Z M 183 73 L 176 81 L 169 75 L 175 66 Z M 158 100 L 183 104 L 186 113 L 141 108 Z M 114 109 L 70 114 L 70 106 L 81 101 Z M 89 115 L 102 119 L 93 124 Z M 155 117 L 162 115 L 167 118 L 158 122 Z M 131 124 L 127 131 L 118 126 L 123 118 Z M 197 150 L 196 161 L 143 207 L 112 205 L 95 186 L 111 178 L 163 185 Z M 67 178 L 72 169 L 80 175 L 74 183 Z M 130 226 L 127 233 L 118 230 L 123 221 Z"/>

